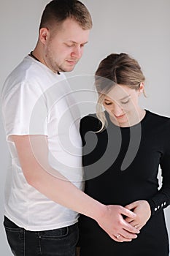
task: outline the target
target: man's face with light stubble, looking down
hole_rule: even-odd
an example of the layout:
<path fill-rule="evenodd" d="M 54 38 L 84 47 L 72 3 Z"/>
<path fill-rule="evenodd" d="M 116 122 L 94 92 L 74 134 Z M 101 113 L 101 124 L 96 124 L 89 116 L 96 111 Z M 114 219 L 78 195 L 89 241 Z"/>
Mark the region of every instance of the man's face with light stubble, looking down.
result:
<path fill-rule="evenodd" d="M 48 33 L 44 43 L 44 64 L 54 72 L 72 71 L 82 57 L 89 32 L 71 18 L 64 20 L 55 34 Z"/>

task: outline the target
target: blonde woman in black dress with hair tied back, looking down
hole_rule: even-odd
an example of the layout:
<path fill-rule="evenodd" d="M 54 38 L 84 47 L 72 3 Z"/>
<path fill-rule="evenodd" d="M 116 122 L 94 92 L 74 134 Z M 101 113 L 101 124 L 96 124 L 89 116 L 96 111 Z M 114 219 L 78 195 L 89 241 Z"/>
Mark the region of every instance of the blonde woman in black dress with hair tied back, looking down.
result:
<path fill-rule="evenodd" d="M 170 203 L 170 118 L 139 106 L 144 75 L 125 53 L 101 61 L 95 84 L 97 113 L 80 124 L 85 192 L 101 203 L 134 211 L 137 217 L 125 220 L 140 233 L 123 243 L 123 233 L 117 233 L 113 241 L 93 219 L 81 216 L 80 256 L 168 256 L 163 208 Z"/>

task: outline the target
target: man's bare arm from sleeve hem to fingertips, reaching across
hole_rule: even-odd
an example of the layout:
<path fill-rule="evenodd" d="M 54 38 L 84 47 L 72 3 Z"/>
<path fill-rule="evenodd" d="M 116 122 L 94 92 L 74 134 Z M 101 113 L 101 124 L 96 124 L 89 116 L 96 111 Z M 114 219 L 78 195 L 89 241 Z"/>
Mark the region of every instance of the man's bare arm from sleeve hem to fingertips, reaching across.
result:
<path fill-rule="evenodd" d="M 122 206 L 105 206 L 74 186 L 48 162 L 47 137 L 44 135 L 11 135 L 23 174 L 29 185 L 40 193 L 73 211 L 95 219 L 115 241 L 131 241 L 139 233 L 123 216 L 136 215 Z M 55 175 L 54 175 L 55 174 Z M 121 235 L 118 239 L 116 236 Z"/>

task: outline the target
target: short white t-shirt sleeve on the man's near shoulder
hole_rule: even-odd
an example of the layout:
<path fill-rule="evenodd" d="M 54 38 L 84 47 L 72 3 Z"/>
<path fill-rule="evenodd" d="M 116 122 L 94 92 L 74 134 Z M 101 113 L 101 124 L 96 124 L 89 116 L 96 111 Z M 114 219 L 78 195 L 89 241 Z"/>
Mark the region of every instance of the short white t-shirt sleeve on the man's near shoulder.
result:
<path fill-rule="evenodd" d="M 7 135 L 47 135 L 45 95 L 38 86 L 20 83 L 4 95 L 4 128 Z"/>

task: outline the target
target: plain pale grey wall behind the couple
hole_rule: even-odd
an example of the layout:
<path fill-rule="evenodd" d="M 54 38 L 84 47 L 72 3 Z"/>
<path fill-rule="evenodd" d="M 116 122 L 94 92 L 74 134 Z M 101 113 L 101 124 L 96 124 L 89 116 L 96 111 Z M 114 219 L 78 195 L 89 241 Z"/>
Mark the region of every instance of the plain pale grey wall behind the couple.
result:
<path fill-rule="evenodd" d="M 82 0 L 93 17 L 93 31 L 85 54 L 68 78 L 74 89 L 93 89 L 92 75 L 99 61 L 109 53 L 126 52 L 134 56 L 147 78 L 148 98 L 142 98 L 144 108 L 170 116 L 170 1 L 169 0 Z M 9 72 L 36 44 L 39 19 L 47 0 L 1 0 L 1 69 L 0 85 Z M 80 75 L 83 75 L 83 79 Z M 87 76 L 88 75 L 88 76 Z M 89 76 L 90 75 L 90 76 Z M 90 78 L 90 79 L 89 79 Z M 75 81 L 75 83 L 74 83 Z M 85 98 L 85 94 L 84 94 Z M 94 110 L 94 104 L 88 111 Z M 7 146 L 4 129 L 1 132 L 0 221 L 3 219 L 4 180 L 7 170 Z M 170 231 L 170 208 L 166 209 Z M 169 232 L 170 233 L 170 232 Z M 12 255 L 0 226 L 1 254 Z M 2 253 L 3 252 L 3 253 Z"/>

